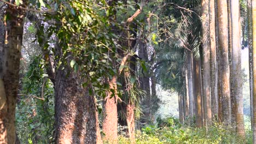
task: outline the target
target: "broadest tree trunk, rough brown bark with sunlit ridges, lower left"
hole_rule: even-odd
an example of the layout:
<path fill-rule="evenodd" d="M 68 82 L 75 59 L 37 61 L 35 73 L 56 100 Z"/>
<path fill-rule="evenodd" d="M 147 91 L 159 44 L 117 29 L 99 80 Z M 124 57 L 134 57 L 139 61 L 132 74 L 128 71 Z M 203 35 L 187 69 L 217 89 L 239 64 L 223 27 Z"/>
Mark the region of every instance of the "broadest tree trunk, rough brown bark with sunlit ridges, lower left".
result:
<path fill-rule="evenodd" d="M 86 80 L 68 65 L 70 61 L 69 56 L 67 65 L 61 65 L 55 75 L 55 141 L 102 143 L 94 95 L 89 94 L 89 87 L 82 87 Z"/>

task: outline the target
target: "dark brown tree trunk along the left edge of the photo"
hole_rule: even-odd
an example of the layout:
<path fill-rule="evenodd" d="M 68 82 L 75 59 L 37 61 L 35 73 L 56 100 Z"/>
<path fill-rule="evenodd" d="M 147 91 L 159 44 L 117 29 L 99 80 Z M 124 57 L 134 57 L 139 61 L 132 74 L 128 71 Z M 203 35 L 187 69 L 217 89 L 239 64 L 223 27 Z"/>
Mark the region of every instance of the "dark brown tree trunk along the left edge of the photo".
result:
<path fill-rule="evenodd" d="M 21 7 L 26 7 L 23 1 Z M 25 11 L 8 6 L 5 38 L 0 46 L 0 143 L 15 143 L 15 106 L 19 87 L 19 67 Z M 0 36 L 1 37 L 1 36 Z"/>

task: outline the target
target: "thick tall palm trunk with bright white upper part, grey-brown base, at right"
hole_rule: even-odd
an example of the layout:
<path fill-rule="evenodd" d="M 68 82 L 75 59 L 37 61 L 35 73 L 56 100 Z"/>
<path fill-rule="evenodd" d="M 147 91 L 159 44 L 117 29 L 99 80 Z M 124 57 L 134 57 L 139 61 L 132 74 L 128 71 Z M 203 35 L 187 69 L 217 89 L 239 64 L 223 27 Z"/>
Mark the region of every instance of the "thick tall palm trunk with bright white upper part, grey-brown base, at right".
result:
<path fill-rule="evenodd" d="M 240 7 L 239 1 L 230 1 L 232 23 L 232 97 L 234 98 L 234 115 L 236 131 L 245 139 L 245 125 L 243 123 L 243 95 L 242 95 L 242 68 L 241 68 L 241 39 L 240 39 Z"/>

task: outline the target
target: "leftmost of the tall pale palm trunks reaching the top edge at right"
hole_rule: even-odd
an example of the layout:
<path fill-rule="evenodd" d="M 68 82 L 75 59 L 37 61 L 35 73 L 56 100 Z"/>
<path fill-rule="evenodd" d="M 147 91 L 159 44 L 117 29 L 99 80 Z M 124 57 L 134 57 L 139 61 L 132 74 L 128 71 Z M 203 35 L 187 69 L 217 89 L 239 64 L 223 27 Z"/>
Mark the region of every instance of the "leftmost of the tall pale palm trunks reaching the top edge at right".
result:
<path fill-rule="evenodd" d="M 202 0 L 202 48 L 203 48 L 203 112 L 206 129 L 212 124 L 211 68 L 209 43 L 209 1 Z"/>

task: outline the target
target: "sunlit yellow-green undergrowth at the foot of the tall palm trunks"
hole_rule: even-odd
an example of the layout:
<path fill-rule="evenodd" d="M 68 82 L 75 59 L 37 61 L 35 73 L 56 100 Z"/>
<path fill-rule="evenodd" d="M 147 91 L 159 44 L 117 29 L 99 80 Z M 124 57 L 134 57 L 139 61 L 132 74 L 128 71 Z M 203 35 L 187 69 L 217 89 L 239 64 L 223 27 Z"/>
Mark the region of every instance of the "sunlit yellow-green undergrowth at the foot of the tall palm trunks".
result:
<path fill-rule="evenodd" d="M 130 141 L 127 135 L 120 135 L 119 143 L 129 144 Z M 148 125 L 141 130 L 137 130 L 136 143 L 252 143 L 252 133 L 246 129 L 246 139 L 242 139 L 236 135 L 234 128 L 226 128 L 223 124 L 214 123 L 206 131 L 205 128 L 182 125 L 178 122 L 178 119 L 168 117 L 158 119 L 156 125 Z"/>

